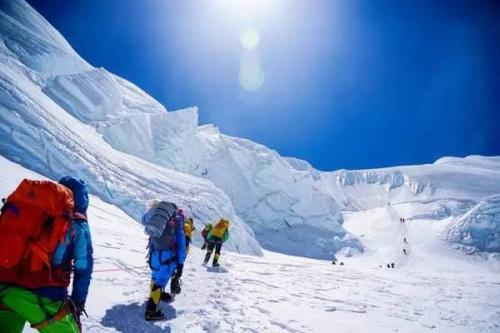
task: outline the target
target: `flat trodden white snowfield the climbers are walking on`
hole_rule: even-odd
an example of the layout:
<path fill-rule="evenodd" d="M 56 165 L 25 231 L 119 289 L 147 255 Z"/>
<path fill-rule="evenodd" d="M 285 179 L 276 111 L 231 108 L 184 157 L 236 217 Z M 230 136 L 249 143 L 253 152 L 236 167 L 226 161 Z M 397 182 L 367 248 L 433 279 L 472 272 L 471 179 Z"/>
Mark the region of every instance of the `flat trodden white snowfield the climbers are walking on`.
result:
<path fill-rule="evenodd" d="M 42 177 L 5 159 L 0 159 L 0 170 L 0 197 L 23 178 Z M 271 252 L 253 257 L 223 250 L 222 269 L 214 271 L 200 265 L 203 253 L 196 247 L 185 264 L 182 293 L 171 305 L 162 305 L 167 320 L 147 323 L 142 316 L 149 270 L 141 226 L 94 196 L 88 213 L 95 266 L 87 301 L 90 317 L 82 319 L 85 332 L 329 333 L 369 328 L 493 333 L 500 329 L 498 271 L 489 271 L 481 262 L 464 262 L 453 253 L 446 254 L 450 260 L 435 266 L 415 262 L 389 270 L 376 268 L 376 261 L 358 262 L 359 258 L 333 266 Z M 350 222 L 348 216 L 346 223 Z"/>

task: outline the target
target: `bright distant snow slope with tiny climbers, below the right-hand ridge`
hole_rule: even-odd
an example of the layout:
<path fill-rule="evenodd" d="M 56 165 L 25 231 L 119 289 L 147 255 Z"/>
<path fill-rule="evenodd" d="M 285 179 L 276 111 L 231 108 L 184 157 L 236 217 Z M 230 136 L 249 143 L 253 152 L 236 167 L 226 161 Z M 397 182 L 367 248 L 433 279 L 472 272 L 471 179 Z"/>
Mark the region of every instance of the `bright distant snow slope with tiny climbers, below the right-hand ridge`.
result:
<path fill-rule="evenodd" d="M 362 256 L 351 256 L 349 252 L 338 253 L 338 260 L 344 260 L 351 265 L 366 267 L 386 267 L 394 263 L 396 268 L 406 269 L 425 268 L 430 271 L 473 271 L 478 263 L 490 266 L 492 270 L 500 272 L 500 253 L 478 253 L 474 256 L 464 256 L 463 251 L 456 251 L 452 243 L 459 243 L 458 239 L 449 237 L 450 226 L 460 218 L 452 216 L 443 219 L 430 217 L 408 218 L 406 216 L 423 215 L 428 208 L 425 205 L 404 204 L 386 205 L 359 212 L 345 212 L 345 228 L 360 239 L 365 248 Z M 402 222 L 404 218 L 404 222 Z M 469 237 L 469 253 L 475 246 L 480 245 L 481 239 L 495 239 L 492 234 L 498 223 L 488 221 L 489 230 L 484 230 L 483 238 L 476 235 Z M 473 228 L 473 227 L 472 227 Z M 458 229 L 451 235 L 471 233 L 469 226 Z M 455 228 L 454 228 L 455 229 Z M 476 226 L 472 232 L 482 231 Z M 493 246 L 493 241 L 490 243 Z M 485 248 L 477 248 L 484 251 Z M 494 251 L 490 251 L 494 252 Z M 497 251 L 498 252 L 498 251 Z"/>

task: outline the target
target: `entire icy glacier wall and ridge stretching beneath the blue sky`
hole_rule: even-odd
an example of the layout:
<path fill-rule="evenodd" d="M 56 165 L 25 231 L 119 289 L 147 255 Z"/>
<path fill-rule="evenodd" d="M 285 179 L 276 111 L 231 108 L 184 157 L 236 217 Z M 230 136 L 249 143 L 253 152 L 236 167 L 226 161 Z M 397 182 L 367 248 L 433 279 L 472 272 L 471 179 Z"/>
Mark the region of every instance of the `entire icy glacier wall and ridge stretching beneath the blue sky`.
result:
<path fill-rule="evenodd" d="M 200 125 L 196 107 L 169 111 L 88 64 L 22 0 L 0 2 L 0 30 L 0 155 L 52 178 L 79 175 L 134 218 L 159 194 L 185 206 L 199 228 L 227 215 L 234 251 L 356 255 L 366 244 L 346 230 L 350 213 L 393 205 L 410 220 L 451 228 L 500 193 L 500 157 L 322 172 Z M 447 235 L 441 238 L 463 243 Z M 486 250 L 482 242 L 471 244 Z"/>

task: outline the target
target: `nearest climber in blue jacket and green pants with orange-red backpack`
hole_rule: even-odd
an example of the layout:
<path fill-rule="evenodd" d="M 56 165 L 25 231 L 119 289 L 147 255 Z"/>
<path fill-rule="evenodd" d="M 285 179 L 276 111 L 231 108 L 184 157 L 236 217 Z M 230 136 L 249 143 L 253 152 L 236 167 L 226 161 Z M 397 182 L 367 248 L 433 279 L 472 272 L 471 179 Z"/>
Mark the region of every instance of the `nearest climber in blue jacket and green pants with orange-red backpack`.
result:
<path fill-rule="evenodd" d="M 81 332 L 93 256 L 82 180 L 23 180 L 0 214 L 0 332 Z M 73 288 L 68 296 L 71 272 Z"/>

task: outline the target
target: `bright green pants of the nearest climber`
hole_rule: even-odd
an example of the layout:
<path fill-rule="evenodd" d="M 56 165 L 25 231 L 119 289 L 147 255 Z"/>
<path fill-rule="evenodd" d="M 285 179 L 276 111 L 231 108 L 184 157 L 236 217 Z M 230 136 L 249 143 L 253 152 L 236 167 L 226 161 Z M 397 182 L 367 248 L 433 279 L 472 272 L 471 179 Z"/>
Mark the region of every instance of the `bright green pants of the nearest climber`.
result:
<path fill-rule="evenodd" d="M 44 323 L 58 314 L 64 302 L 39 297 L 18 287 L 0 284 L 0 333 L 21 333 L 26 322 L 32 326 Z M 39 329 L 42 333 L 79 333 L 71 312 L 61 319 L 47 323 Z"/>

